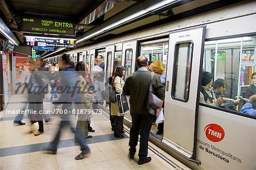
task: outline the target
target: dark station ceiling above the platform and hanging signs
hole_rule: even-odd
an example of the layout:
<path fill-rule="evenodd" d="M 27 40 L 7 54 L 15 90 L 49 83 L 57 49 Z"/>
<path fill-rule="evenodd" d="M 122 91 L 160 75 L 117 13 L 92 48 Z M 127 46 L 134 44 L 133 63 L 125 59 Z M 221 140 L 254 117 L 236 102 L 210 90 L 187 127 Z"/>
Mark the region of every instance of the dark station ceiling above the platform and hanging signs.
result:
<path fill-rule="evenodd" d="M 76 25 L 76 35 L 72 38 L 82 39 L 93 32 L 107 27 L 110 24 L 133 15 L 148 7 L 154 6 L 161 0 L 0 0 L 0 16 L 10 30 L 23 45 L 24 33 L 20 29 L 21 18 L 30 16 L 35 18 L 49 18 L 65 20 Z M 173 5 L 163 7 L 150 14 L 138 17 L 116 29 L 106 31 L 92 37 L 77 46 L 85 46 L 97 40 L 109 39 L 125 33 L 153 27 L 154 25 L 172 22 L 187 16 L 213 10 L 221 6 L 240 2 L 239 0 L 180 0 Z M 96 16 L 96 14 L 98 14 Z M 46 36 L 46 35 L 42 35 Z"/>

